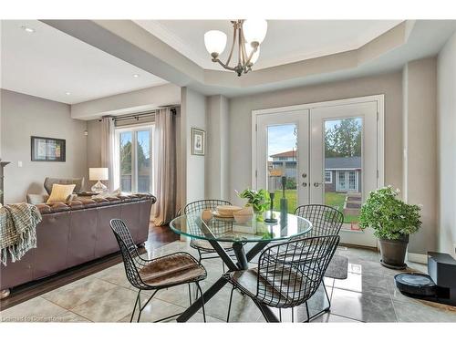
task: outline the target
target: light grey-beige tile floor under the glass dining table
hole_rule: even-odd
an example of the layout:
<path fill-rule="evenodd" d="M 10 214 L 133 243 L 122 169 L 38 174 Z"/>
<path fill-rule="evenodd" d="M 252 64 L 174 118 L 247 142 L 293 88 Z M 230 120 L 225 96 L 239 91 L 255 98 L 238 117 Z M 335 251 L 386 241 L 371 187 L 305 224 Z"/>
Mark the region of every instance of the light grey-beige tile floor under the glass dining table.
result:
<path fill-rule="evenodd" d="M 179 241 L 150 250 L 155 257 L 177 251 L 195 254 L 192 248 Z M 346 280 L 325 279 L 331 296 L 331 312 L 313 322 L 456 322 L 456 307 L 441 306 L 401 295 L 393 276 L 396 271 L 378 264 L 378 254 L 368 250 L 339 247 L 338 254 L 349 259 Z M 202 288 L 218 279 L 222 273 L 220 260 L 203 261 L 208 271 Z M 409 264 L 417 271 L 426 271 L 420 264 Z M 3 322 L 129 322 L 136 291 L 127 281 L 123 264 L 117 264 L 74 283 L 37 296 L 0 312 Z M 212 297 L 206 304 L 208 322 L 226 319 L 230 287 Z M 143 301 L 147 294 L 143 296 Z M 309 307 L 316 312 L 325 306 L 322 289 L 311 298 Z M 141 315 L 141 322 L 151 322 L 164 316 L 180 313 L 189 306 L 188 287 L 160 291 Z M 277 310 L 275 310 L 278 313 Z M 306 319 L 304 307 L 295 308 L 295 322 Z M 291 321 L 291 309 L 282 310 L 282 320 Z M 170 320 L 175 322 L 175 320 Z M 233 295 L 231 322 L 264 322 L 263 316 L 251 300 L 237 292 Z M 202 322 L 202 314 L 190 322 Z"/>

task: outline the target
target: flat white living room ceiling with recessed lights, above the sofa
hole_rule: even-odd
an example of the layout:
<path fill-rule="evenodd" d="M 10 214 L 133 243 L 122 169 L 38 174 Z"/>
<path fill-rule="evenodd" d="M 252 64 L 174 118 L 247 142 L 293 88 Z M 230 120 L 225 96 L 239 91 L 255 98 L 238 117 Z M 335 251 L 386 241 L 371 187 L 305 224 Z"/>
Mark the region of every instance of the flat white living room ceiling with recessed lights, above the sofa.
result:
<path fill-rule="evenodd" d="M 1 88 L 73 104 L 167 83 L 40 21 L 2 20 L 1 28 Z"/>

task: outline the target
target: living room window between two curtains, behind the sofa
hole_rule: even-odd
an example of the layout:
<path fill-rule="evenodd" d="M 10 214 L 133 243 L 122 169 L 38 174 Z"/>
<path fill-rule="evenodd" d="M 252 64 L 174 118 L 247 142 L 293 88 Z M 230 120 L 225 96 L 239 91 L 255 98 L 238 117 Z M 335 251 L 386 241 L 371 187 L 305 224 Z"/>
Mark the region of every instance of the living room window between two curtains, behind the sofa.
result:
<path fill-rule="evenodd" d="M 153 125 L 116 130 L 115 183 L 122 192 L 153 193 Z"/>

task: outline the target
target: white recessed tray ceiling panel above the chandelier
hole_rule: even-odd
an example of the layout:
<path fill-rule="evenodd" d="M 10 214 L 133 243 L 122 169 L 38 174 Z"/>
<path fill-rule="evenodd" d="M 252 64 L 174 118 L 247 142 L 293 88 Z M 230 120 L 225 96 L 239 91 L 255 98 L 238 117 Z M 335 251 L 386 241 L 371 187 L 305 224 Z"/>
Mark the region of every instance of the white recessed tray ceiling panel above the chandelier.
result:
<path fill-rule="evenodd" d="M 137 20 L 138 25 L 205 69 L 223 70 L 212 63 L 204 33 L 217 29 L 228 36 L 221 59 L 233 41 L 229 20 Z M 275 67 L 362 47 L 400 20 L 268 20 L 267 35 L 254 69 Z M 233 63 L 233 62 L 232 62 Z"/>

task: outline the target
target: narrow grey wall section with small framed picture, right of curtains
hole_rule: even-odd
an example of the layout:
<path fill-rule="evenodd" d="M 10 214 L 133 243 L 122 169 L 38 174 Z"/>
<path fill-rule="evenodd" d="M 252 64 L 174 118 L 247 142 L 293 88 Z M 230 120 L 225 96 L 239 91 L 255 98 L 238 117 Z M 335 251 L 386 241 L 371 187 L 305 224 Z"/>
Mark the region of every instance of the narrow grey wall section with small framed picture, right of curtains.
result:
<path fill-rule="evenodd" d="M 206 156 L 192 155 L 192 127 L 206 130 L 206 97 L 181 88 L 181 206 L 205 198 Z M 207 135 L 206 135 L 207 150 Z"/>

